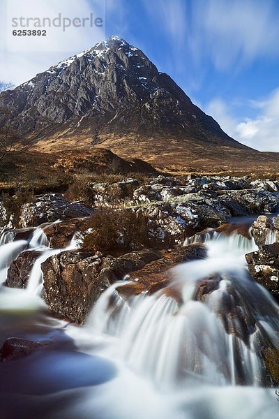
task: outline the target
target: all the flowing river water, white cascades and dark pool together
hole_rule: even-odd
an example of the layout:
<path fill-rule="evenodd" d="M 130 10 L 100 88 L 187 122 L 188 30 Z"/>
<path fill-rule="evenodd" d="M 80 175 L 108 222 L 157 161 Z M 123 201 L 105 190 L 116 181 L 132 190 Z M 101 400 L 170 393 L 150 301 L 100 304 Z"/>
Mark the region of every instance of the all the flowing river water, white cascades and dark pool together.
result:
<path fill-rule="evenodd" d="M 26 290 L 0 288 L 1 341 L 50 340 L 55 349 L 0 364 L 2 416 L 279 418 L 263 358 L 279 347 L 279 310 L 248 274 L 244 255 L 257 249 L 254 240 L 209 230 L 190 241 L 203 241 L 208 257 L 175 267 L 172 283 L 153 295 L 123 297 L 129 283 L 119 281 L 78 327 L 52 318 L 40 298 L 40 264 L 62 249 L 48 247 L 42 228 L 27 240 L 3 233 L 2 282 L 22 251 L 40 255 Z"/>

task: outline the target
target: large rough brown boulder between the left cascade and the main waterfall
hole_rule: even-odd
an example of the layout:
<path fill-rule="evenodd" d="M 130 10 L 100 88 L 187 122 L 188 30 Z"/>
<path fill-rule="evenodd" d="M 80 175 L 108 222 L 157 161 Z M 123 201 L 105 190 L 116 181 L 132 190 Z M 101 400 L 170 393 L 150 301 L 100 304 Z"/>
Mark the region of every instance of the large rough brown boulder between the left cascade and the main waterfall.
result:
<path fill-rule="evenodd" d="M 119 258 L 63 251 L 42 264 L 43 298 L 54 313 L 82 323 L 110 284 L 160 257 L 160 253 L 149 250 L 127 253 Z"/>

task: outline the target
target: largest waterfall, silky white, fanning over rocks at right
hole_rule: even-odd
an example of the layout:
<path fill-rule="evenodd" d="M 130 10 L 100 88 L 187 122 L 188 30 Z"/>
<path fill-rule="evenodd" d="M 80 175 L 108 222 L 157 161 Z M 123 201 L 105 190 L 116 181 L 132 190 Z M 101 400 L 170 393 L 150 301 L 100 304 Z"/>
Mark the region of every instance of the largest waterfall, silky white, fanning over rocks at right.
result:
<path fill-rule="evenodd" d="M 206 247 L 208 258 L 175 267 L 172 284 L 153 295 L 125 299 L 116 293 L 121 283 L 114 284 L 86 328 L 113 337 L 114 353 L 160 386 L 189 378 L 269 385 L 262 348 L 279 345 L 279 311 L 248 274 L 243 255 L 257 249 L 255 242 L 232 233 L 213 237 Z M 213 291 L 198 297 L 202 281 Z M 170 296 L 172 289 L 179 300 Z"/>

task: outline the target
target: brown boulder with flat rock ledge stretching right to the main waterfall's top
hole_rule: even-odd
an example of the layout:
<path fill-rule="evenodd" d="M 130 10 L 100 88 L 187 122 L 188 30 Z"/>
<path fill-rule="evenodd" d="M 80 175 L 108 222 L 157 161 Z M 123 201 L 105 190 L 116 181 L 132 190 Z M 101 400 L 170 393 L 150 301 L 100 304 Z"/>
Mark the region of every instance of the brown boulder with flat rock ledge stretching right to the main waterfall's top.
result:
<path fill-rule="evenodd" d="M 133 278 L 141 279 L 141 283 L 121 287 L 128 295 L 135 295 L 146 288 L 151 291 L 150 279 L 153 281 L 153 291 L 156 291 L 169 280 L 163 274 L 169 267 L 205 256 L 206 250 L 200 244 L 191 244 L 169 253 L 149 249 L 134 251 L 118 258 L 94 256 L 82 251 L 63 251 L 42 264 L 45 281 L 43 298 L 54 313 L 82 323 L 103 291 L 126 274 L 134 272 Z M 158 265 L 154 266 L 156 261 Z M 145 266 L 150 266 L 151 270 L 144 271 Z"/>

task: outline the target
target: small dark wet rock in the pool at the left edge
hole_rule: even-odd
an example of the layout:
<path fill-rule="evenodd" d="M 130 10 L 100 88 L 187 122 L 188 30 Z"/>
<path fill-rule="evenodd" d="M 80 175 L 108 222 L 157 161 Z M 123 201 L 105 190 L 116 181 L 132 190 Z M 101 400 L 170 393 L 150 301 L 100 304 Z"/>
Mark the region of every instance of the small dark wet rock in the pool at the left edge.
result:
<path fill-rule="evenodd" d="M 13 361 L 31 355 L 45 346 L 40 342 L 22 339 L 20 337 L 9 337 L 4 341 L 0 349 L 0 362 Z"/>

